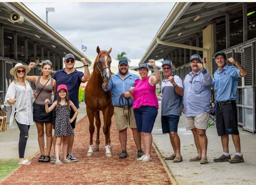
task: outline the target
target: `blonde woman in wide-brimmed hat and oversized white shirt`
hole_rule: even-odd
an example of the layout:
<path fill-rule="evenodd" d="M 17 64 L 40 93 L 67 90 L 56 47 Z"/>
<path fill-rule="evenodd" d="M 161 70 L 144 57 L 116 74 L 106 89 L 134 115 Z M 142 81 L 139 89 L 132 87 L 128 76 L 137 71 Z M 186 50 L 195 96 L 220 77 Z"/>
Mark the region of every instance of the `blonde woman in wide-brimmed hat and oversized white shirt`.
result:
<path fill-rule="evenodd" d="M 30 165 L 31 161 L 24 159 L 26 142 L 29 137 L 29 127 L 34 124 L 32 103 L 35 98 L 33 90 L 28 81 L 26 74 L 29 67 L 21 63 L 17 63 L 10 73 L 14 77 L 9 85 L 4 104 L 12 106 L 10 117 L 10 128 L 19 127 L 19 162 L 18 165 Z"/>

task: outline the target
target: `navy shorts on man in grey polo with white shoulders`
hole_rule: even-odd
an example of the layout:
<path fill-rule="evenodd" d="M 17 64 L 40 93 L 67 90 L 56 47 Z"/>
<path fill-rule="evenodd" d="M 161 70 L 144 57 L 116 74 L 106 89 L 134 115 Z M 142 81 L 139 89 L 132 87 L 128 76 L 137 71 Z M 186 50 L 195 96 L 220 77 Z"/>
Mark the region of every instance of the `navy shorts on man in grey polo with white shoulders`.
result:
<path fill-rule="evenodd" d="M 177 132 L 179 120 L 176 115 L 161 116 L 163 133 Z"/>

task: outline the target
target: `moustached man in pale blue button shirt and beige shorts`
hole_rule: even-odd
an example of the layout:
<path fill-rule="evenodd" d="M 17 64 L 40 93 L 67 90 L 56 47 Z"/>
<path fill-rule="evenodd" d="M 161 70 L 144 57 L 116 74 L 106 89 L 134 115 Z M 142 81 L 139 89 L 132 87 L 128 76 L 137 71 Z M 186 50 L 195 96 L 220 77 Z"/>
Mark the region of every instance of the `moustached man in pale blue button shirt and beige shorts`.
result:
<path fill-rule="evenodd" d="M 212 77 L 204 69 L 200 55 L 194 54 L 190 57 L 190 66 L 192 72 L 186 75 L 183 83 L 183 113 L 186 130 L 191 130 L 193 133 L 198 156 L 189 161 L 207 164 L 206 129 L 210 113 Z"/>

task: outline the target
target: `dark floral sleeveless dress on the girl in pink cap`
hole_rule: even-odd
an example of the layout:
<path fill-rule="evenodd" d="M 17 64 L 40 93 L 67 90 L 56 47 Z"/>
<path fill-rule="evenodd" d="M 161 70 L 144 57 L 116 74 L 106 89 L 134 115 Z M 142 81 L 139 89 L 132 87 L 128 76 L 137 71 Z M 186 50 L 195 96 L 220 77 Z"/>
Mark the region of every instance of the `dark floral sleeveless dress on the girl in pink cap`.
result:
<path fill-rule="evenodd" d="M 55 137 L 60 136 L 75 136 L 75 133 L 68 122 L 70 119 L 71 107 L 67 108 L 67 105 L 58 104 L 56 109 L 56 120 L 55 120 Z"/>

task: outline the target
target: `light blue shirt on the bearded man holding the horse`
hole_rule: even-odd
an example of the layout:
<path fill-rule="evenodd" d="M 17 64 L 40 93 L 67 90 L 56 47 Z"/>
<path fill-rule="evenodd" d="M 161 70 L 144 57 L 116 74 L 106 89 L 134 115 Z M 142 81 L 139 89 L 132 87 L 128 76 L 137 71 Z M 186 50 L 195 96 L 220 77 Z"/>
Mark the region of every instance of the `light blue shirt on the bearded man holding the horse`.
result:
<path fill-rule="evenodd" d="M 129 91 L 130 87 L 134 87 L 134 82 L 136 79 L 140 79 L 140 77 L 130 72 L 127 73 L 127 76 L 125 77 L 125 79 L 122 79 L 122 77 L 120 76 L 120 73 L 117 72 L 116 74 L 111 75 L 111 80 L 109 81 L 108 89 L 105 89 L 102 84 L 102 89 L 105 92 L 108 90 L 111 90 L 112 92 L 111 100 L 112 100 L 113 106 L 122 107 L 127 105 L 128 101 L 129 101 L 129 105 L 133 104 L 133 100 L 131 98 L 128 98 L 127 100 L 124 96 L 122 96 L 122 98 L 120 98 L 120 96 L 124 92 Z"/>

